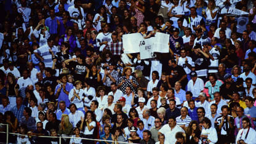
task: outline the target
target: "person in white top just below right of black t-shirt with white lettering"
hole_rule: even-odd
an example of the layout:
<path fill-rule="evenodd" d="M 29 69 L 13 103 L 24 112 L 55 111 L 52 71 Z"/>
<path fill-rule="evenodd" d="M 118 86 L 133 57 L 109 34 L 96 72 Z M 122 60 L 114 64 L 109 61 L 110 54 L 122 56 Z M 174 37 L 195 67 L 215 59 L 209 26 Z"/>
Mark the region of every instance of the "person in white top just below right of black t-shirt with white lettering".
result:
<path fill-rule="evenodd" d="M 86 78 L 84 80 L 84 106 L 90 107 L 90 102 L 92 102 L 92 100 L 95 100 L 95 96 L 96 96 L 96 92 L 94 87 L 90 86 L 90 79 Z"/>

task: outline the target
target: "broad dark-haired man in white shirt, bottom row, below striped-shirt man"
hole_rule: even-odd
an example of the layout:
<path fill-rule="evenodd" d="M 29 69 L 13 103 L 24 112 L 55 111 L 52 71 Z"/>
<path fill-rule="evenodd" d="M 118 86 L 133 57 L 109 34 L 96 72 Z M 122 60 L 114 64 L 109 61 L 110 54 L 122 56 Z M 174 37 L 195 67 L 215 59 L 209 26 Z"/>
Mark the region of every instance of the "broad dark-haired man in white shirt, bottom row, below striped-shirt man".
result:
<path fill-rule="evenodd" d="M 185 132 L 182 127 L 176 124 L 175 118 L 169 118 L 168 124 L 165 124 L 158 132 L 158 134 L 164 134 L 166 137 L 165 142 L 167 144 L 174 144 L 177 140 L 175 134 L 177 132 Z"/>

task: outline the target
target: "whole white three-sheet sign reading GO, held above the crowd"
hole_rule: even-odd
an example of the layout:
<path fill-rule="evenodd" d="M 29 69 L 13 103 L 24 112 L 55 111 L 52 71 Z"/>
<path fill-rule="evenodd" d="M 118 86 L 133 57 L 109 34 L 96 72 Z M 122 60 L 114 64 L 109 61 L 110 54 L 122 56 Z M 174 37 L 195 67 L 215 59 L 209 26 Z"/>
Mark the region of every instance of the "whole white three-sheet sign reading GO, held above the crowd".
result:
<path fill-rule="evenodd" d="M 140 58 L 153 58 L 154 52 L 169 52 L 169 34 L 156 33 L 154 37 L 144 39 L 142 34 L 124 34 L 122 43 L 124 46 L 124 54 L 132 54 L 140 52 Z"/>

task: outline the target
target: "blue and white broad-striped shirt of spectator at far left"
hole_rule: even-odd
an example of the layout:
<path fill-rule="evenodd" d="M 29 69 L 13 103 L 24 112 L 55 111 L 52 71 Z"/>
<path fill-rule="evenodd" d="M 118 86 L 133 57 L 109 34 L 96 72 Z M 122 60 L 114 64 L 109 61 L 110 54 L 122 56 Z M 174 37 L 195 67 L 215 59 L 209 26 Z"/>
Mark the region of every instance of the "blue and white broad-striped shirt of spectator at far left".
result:
<path fill-rule="evenodd" d="M 54 48 L 54 47 L 53 47 Z M 41 55 L 42 58 L 44 58 L 44 64 L 46 65 L 46 67 L 52 67 L 52 54 L 50 54 L 49 52 L 50 47 L 48 46 L 48 44 L 39 47 L 38 49 L 34 50 L 34 52 L 38 53 L 39 55 Z M 52 51 L 54 52 L 54 54 L 56 53 L 57 49 L 52 49 Z"/>

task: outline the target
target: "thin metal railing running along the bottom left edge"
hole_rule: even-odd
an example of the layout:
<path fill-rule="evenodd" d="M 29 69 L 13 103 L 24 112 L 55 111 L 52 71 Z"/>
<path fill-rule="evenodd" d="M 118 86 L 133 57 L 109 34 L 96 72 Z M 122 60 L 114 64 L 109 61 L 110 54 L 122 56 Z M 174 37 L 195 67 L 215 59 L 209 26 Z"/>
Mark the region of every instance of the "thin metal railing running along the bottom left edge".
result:
<path fill-rule="evenodd" d="M 6 129 L 7 129 L 6 132 L 0 132 L 0 133 L 6 134 L 6 143 L 7 144 L 9 143 L 9 134 L 20 135 L 20 136 L 28 136 L 28 135 L 9 132 L 9 124 L 0 124 L 0 125 L 6 126 Z M 111 142 L 111 143 L 114 143 L 114 144 L 117 144 L 117 143 L 131 144 L 131 143 L 128 143 L 128 142 L 117 142 L 117 141 L 114 141 L 114 140 L 100 140 L 100 139 L 82 138 L 82 137 L 62 137 L 62 136 L 52 137 L 52 136 L 37 136 L 37 135 L 32 135 L 32 137 L 58 138 L 59 144 L 62 144 L 62 138 L 76 138 L 76 139 L 82 139 L 82 140 L 92 140 L 92 141 L 97 141 L 97 142 Z"/>

